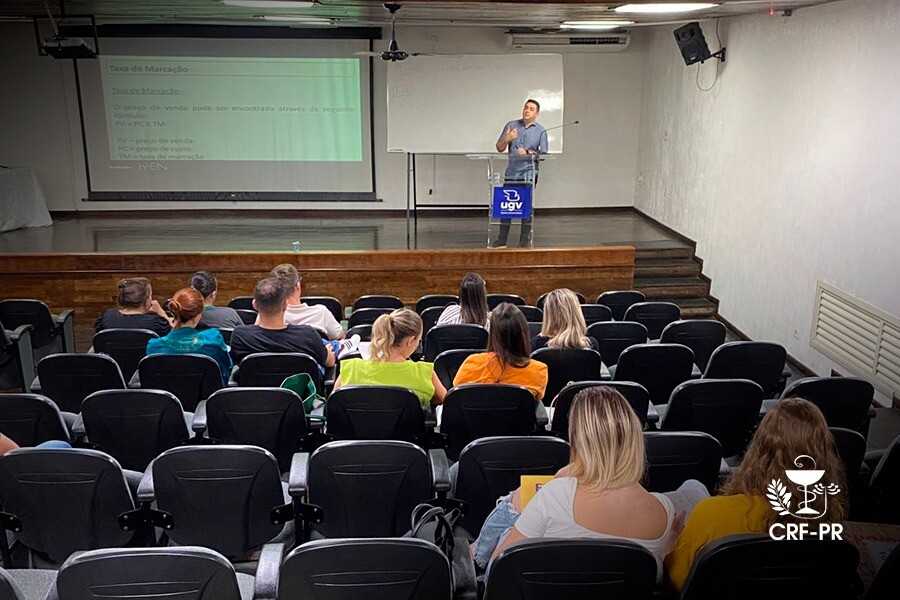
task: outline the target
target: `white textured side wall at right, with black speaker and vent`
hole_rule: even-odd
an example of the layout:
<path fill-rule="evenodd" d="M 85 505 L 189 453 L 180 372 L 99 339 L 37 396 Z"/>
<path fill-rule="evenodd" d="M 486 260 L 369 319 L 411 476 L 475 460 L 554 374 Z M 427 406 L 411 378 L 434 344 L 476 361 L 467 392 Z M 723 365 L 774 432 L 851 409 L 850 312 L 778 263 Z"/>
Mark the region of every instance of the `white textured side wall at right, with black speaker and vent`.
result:
<path fill-rule="evenodd" d="M 809 346 L 816 281 L 900 315 L 900 3 L 723 19 L 720 34 L 728 60 L 705 93 L 671 28 L 648 40 L 635 206 L 697 240 L 735 326 L 846 372 Z"/>

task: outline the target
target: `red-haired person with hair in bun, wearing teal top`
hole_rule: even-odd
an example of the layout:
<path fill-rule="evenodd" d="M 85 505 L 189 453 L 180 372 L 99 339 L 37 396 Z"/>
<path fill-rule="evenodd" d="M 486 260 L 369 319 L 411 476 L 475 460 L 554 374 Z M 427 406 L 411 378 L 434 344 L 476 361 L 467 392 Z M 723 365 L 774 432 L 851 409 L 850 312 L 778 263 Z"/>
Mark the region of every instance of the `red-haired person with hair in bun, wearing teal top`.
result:
<path fill-rule="evenodd" d="M 147 342 L 147 355 L 205 354 L 219 365 L 222 382 L 227 385 L 231 358 L 222 334 L 215 328 L 197 330 L 204 312 L 203 295 L 193 288 L 178 290 L 168 308 L 175 315 L 175 327 L 169 335 Z"/>

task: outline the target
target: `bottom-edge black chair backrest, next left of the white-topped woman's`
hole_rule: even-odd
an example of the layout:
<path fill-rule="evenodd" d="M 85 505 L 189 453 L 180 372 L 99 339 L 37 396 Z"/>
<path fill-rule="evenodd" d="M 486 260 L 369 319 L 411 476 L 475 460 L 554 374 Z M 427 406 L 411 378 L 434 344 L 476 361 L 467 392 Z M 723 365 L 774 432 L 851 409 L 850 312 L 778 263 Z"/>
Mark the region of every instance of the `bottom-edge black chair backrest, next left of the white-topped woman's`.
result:
<path fill-rule="evenodd" d="M 450 600 L 450 590 L 446 557 L 415 538 L 314 540 L 284 559 L 278 578 L 279 598 Z"/>

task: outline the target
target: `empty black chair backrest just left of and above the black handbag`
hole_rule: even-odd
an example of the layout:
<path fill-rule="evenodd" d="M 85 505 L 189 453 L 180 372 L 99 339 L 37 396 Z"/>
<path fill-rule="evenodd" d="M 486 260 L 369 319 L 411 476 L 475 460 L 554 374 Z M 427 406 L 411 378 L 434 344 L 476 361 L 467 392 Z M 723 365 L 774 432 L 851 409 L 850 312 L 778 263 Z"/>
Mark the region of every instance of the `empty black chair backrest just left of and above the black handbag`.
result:
<path fill-rule="evenodd" d="M 309 501 L 325 537 L 399 537 L 413 508 L 432 498 L 425 451 L 409 442 L 330 442 L 309 457 Z"/>

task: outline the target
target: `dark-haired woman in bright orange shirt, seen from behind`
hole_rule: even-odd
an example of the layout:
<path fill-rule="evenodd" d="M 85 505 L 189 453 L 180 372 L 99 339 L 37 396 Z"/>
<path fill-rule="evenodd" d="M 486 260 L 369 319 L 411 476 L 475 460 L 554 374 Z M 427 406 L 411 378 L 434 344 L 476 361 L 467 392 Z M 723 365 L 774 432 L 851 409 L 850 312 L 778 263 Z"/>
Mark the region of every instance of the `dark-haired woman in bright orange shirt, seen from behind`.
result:
<path fill-rule="evenodd" d="M 491 311 L 487 352 L 468 357 L 453 385 L 510 383 L 528 388 L 534 399 L 540 400 L 547 390 L 547 365 L 532 359 L 530 352 L 525 315 L 519 307 L 504 302 Z"/>

